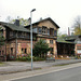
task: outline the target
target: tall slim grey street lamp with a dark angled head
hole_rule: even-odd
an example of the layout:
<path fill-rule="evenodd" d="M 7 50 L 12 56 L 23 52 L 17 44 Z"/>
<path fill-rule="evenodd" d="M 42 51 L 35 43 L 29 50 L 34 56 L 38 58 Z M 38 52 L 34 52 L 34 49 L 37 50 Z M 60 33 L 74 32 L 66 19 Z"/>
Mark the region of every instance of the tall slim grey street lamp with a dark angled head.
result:
<path fill-rule="evenodd" d="M 30 41 L 31 41 L 31 70 L 32 70 L 32 12 L 36 11 L 36 9 L 30 11 Z"/>

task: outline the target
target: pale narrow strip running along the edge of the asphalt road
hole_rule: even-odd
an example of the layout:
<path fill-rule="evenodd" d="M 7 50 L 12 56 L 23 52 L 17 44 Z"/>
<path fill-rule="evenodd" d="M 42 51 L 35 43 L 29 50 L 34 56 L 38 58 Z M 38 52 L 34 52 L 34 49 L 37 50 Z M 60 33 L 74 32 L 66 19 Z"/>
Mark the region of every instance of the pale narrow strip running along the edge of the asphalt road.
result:
<path fill-rule="evenodd" d="M 41 76 L 41 75 L 45 75 L 45 73 L 62 71 L 62 70 L 66 70 L 66 69 L 79 67 L 79 66 L 81 66 L 81 63 L 79 63 L 79 64 L 71 64 L 71 66 L 70 66 L 70 67 L 69 67 L 69 66 L 70 66 L 70 65 L 67 65 L 66 68 L 64 67 L 64 68 L 60 68 L 60 69 L 51 70 L 51 71 L 45 71 L 45 72 L 40 72 L 40 73 L 37 73 L 37 75 L 31 73 L 30 76 L 25 76 L 25 77 L 9 79 L 9 80 L 4 80 L 4 81 L 18 80 L 18 79 L 30 78 L 30 77 Z"/>

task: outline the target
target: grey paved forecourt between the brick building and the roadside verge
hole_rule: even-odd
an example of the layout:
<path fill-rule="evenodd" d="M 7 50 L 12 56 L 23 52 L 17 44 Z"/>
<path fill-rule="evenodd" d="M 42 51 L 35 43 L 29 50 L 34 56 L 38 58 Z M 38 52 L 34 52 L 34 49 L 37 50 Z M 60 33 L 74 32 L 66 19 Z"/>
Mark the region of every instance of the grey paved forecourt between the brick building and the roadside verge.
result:
<path fill-rule="evenodd" d="M 81 63 L 81 59 L 56 59 L 55 62 L 33 62 L 33 69 L 42 69 L 54 67 L 56 65 Z M 0 75 L 22 72 L 31 70 L 31 63 L 28 62 L 4 62 L 3 66 L 0 66 Z"/>

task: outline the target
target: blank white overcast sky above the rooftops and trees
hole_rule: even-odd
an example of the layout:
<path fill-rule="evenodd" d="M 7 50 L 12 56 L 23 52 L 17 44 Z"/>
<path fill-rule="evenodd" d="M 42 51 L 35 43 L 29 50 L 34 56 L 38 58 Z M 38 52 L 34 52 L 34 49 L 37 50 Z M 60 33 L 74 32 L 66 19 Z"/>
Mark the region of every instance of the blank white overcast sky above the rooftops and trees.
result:
<path fill-rule="evenodd" d="M 28 18 L 32 9 L 36 9 L 33 22 L 51 17 L 59 31 L 67 33 L 75 17 L 81 15 L 81 0 L 0 0 L 0 21 L 5 22 L 8 16 Z"/>

